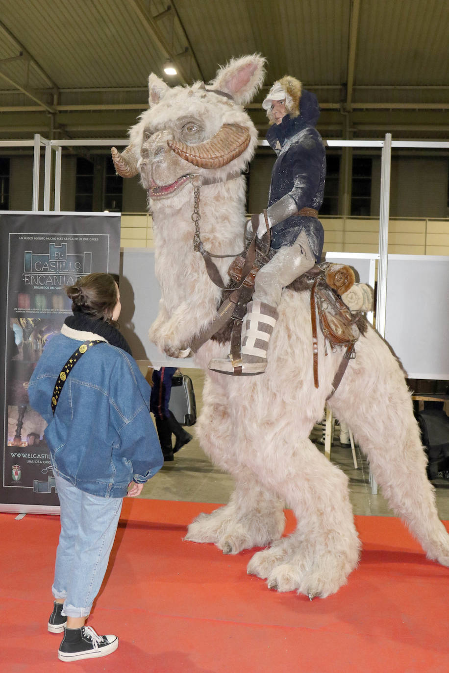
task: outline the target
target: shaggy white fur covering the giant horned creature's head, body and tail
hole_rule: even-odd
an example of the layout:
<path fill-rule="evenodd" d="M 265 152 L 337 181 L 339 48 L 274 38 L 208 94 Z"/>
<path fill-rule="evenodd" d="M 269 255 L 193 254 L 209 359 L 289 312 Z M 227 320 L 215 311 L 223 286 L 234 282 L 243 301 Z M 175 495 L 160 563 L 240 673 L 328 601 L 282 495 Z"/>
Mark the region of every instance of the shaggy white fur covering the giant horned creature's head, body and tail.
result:
<path fill-rule="evenodd" d="M 234 100 L 205 90 L 201 83 L 170 89 L 150 75 L 150 108 L 130 132 L 129 151 L 139 161 L 143 186 L 149 190 L 162 291 L 149 336 L 170 355 L 179 356 L 207 328 L 221 299 L 201 254 L 193 250 L 193 186 L 183 176 L 224 180 L 230 172 L 246 168 L 256 130 L 240 104 L 251 100 L 263 75 L 264 60 L 257 55 L 235 59 L 220 69 L 210 88 L 221 89 Z M 250 133 L 247 149 L 223 168 L 196 168 L 167 144 L 173 139 L 204 142 L 223 124 L 240 125 Z M 162 197 L 154 191 L 161 187 Z M 201 238 L 207 250 L 228 255 L 242 250 L 244 199 L 243 177 L 201 188 Z M 227 281 L 230 259 L 215 262 Z M 316 390 L 310 295 L 284 290 L 265 374 L 242 378 L 215 374 L 207 363 L 211 357 L 226 357 L 228 345 L 209 341 L 199 349 L 196 359 L 206 380 L 197 434 L 211 460 L 234 476 L 236 489 L 228 505 L 199 516 L 186 535 L 186 540 L 213 542 L 223 553 L 271 545 L 252 557 L 248 573 L 266 578 L 270 588 L 296 590 L 310 598 L 336 592 L 359 559 L 347 477 L 308 439 L 322 417 L 343 355 L 341 350 L 325 355 L 322 334 L 318 347 Z M 372 328 L 361 336 L 356 351 L 329 404 L 353 431 L 385 497 L 427 556 L 449 565 L 449 537 L 425 474 L 425 455 L 403 372 Z M 285 504 L 293 509 L 298 528 L 281 538 Z"/>

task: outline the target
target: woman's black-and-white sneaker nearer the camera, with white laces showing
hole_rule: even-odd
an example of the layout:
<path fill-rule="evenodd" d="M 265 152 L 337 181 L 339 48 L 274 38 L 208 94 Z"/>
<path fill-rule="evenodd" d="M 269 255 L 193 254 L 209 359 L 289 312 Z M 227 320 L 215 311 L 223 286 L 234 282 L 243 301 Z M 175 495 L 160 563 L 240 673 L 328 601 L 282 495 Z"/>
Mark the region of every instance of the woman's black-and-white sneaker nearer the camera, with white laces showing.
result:
<path fill-rule="evenodd" d="M 98 635 L 92 627 L 64 629 L 64 637 L 59 645 L 58 659 L 61 662 L 77 662 L 80 659 L 106 657 L 118 647 L 116 635 Z"/>

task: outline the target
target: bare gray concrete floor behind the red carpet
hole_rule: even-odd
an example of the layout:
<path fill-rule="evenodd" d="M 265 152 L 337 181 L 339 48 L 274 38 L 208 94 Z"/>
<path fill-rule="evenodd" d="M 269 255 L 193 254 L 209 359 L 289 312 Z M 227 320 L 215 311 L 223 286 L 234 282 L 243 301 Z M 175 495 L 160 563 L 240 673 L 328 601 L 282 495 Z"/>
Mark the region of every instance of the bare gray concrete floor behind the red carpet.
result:
<path fill-rule="evenodd" d="M 203 371 L 200 369 L 182 369 L 193 381 L 197 400 L 197 412 L 201 410 L 203 392 Z M 186 428 L 193 433 L 194 439 L 175 454 L 173 462 L 166 462 L 153 479 L 143 487 L 141 497 L 160 500 L 227 503 L 234 489 L 234 479 L 230 474 L 221 472 L 213 466 L 195 438 L 195 426 Z M 324 453 L 324 446 L 318 443 L 321 429 L 315 427 L 311 439 L 318 450 Z M 365 458 L 356 446 L 357 470 L 354 468 L 351 448 L 341 448 L 338 433 L 332 445 L 331 460 L 349 476 L 351 503 L 355 514 L 367 516 L 394 516 L 380 489 L 373 495 L 370 487 L 370 469 Z M 443 520 L 449 520 L 449 481 L 437 479 L 436 499 L 438 513 Z"/>

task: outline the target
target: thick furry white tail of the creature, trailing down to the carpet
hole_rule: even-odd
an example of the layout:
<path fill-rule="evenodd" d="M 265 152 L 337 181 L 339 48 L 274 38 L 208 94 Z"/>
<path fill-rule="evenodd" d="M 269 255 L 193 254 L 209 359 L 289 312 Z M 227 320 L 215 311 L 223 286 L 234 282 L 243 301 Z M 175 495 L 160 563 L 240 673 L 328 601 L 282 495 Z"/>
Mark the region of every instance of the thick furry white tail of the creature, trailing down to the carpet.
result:
<path fill-rule="evenodd" d="M 429 559 L 449 565 L 449 536 L 438 518 L 434 487 L 405 378 L 374 330 L 357 344 L 329 403 L 347 421 L 370 461 L 384 497 L 407 523 Z"/>

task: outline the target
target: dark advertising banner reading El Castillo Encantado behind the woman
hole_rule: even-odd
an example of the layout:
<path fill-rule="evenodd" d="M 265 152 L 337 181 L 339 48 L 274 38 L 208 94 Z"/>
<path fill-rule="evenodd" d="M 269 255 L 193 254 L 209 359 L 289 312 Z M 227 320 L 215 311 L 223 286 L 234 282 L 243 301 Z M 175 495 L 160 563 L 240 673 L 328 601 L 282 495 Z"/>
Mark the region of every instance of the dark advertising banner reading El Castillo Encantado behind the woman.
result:
<path fill-rule="evenodd" d="M 71 314 L 64 286 L 94 271 L 118 276 L 119 260 L 117 213 L 0 213 L 0 511 L 59 505 L 46 424 L 30 407 L 28 382 Z"/>

